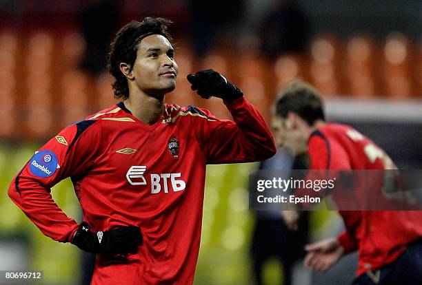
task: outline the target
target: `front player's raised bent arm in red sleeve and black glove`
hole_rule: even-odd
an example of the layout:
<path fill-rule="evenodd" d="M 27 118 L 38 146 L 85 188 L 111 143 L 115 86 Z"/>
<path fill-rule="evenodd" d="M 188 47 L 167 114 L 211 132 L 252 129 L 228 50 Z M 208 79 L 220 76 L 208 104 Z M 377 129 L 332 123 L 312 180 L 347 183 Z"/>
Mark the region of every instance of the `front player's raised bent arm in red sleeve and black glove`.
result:
<path fill-rule="evenodd" d="M 197 134 L 209 164 L 254 162 L 276 153 L 274 138 L 258 109 L 230 81 L 214 70 L 197 72 L 188 80 L 203 98 L 222 98 L 233 117 L 233 121 L 219 120 L 199 109 L 208 118 L 202 121 Z"/>

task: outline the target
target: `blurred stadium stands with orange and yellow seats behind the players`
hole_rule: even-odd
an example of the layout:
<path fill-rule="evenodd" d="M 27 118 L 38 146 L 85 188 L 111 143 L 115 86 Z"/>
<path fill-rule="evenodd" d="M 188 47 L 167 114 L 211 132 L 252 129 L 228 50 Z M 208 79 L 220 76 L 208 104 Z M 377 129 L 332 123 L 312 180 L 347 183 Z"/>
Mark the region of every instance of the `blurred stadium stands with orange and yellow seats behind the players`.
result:
<path fill-rule="evenodd" d="M 330 119 L 373 138 L 399 167 L 421 167 L 421 1 L 0 0 L 0 270 L 43 270 L 46 284 L 75 284 L 81 275 L 80 252 L 43 237 L 6 191 L 48 138 L 116 102 L 108 45 L 122 25 L 146 16 L 174 21 L 180 72 L 167 101 L 230 118 L 221 101 L 197 98 L 185 80 L 214 68 L 270 123 L 275 94 L 303 78 L 325 98 Z M 209 167 L 195 284 L 253 284 L 247 187 L 256 167 Z M 70 181 L 52 193 L 79 217 Z M 310 224 L 312 237 L 341 227 L 330 212 L 312 213 Z M 264 271 L 268 284 L 281 284 L 277 260 Z"/>

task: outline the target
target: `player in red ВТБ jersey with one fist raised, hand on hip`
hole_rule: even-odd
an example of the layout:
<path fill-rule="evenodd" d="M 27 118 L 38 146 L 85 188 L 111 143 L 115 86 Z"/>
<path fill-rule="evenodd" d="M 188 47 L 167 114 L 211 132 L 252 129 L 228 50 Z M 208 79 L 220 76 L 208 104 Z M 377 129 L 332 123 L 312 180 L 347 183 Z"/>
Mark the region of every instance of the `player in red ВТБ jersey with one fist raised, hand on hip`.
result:
<path fill-rule="evenodd" d="M 97 253 L 92 284 L 192 284 L 205 166 L 264 160 L 276 151 L 258 110 L 213 70 L 188 81 L 200 96 L 222 98 L 234 121 L 164 103 L 178 73 L 168 24 L 148 17 L 117 33 L 109 69 L 123 100 L 63 129 L 10 184 L 10 198 L 45 235 Z M 81 224 L 50 194 L 67 177 Z"/>

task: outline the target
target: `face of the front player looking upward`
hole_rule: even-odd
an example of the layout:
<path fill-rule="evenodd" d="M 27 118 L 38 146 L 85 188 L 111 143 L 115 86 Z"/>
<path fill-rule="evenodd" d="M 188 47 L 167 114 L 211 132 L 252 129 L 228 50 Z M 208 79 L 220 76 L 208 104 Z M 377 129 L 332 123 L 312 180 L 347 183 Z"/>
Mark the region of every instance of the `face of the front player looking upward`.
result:
<path fill-rule="evenodd" d="M 179 67 L 168 39 L 159 34 L 142 39 L 132 70 L 134 81 L 146 94 L 154 96 L 172 92 L 176 87 Z"/>

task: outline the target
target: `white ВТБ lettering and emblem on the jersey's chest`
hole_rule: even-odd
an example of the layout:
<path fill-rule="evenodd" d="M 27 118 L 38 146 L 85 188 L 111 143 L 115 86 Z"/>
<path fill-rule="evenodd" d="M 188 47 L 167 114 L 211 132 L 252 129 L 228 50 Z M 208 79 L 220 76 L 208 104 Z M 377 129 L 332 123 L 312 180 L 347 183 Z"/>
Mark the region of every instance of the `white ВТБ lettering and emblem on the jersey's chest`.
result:
<path fill-rule="evenodd" d="M 145 173 L 145 171 L 145 165 L 134 165 L 130 167 L 128 173 L 126 173 L 126 178 L 131 185 L 146 185 L 147 182 L 145 177 L 143 177 L 143 173 Z M 168 193 L 168 190 L 170 189 L 168 179 L 170 179 L 173 192 L 184 190 L 186 188 L 186 183 L 181 179 L 177 179 L 180 177 L 181 173 L 151 173 L 151 193 L 157 194 L 161 191 L 161 189 L 164 189 L 164 193 Z"/>

